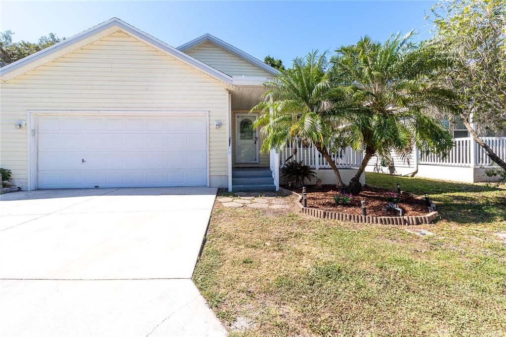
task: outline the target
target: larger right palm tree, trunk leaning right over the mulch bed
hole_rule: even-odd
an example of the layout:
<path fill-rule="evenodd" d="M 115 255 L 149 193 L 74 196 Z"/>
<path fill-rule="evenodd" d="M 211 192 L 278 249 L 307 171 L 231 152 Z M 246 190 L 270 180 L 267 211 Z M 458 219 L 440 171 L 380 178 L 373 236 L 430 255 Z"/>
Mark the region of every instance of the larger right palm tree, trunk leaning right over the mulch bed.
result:
<path fill-rule="evenodd" d="M 392 35 L 383 44 L 365 36 L 356 45 L 336 50 L 338 54 L 330 60 L 328 76 L 336 83 L 334 97 L 353 102 L 340 136 L 364 151 L 348 186 L 353 194 L 360 193 L 359 178 L 373 155 L 390 159 L 394 151 L 405 157 L 415 144 L 424 152 L 444 156 L 453 146 L 448 130 L 430 113 L 454 108 L 453 93 L 429 80 L 447 62 L 433 43 L 416 45 L 412 36 L 413 31 Z"/>

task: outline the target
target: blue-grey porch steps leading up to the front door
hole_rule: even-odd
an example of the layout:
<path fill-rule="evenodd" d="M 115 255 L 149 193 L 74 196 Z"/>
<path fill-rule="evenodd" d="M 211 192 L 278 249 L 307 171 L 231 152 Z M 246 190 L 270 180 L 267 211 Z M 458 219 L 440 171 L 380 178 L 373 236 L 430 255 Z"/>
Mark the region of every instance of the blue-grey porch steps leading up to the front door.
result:
<path fill-rule="evenodd" d="M 275 191 L 272 172 L 267 167 L 232 169 L 232 191 Z"/>

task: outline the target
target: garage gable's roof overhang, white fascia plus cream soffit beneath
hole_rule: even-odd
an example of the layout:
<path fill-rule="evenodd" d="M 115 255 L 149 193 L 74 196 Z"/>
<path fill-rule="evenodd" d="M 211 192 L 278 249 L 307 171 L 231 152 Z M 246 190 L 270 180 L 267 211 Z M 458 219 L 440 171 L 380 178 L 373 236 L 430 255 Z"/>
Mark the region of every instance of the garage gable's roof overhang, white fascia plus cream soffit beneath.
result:
<path fill-rule="evenodd" d="M 149 46 L 159 50 L 162 53 L 170 55 L 175 59 L 223 82 L 228 86 L 233 87 L 232 77 L 208 66 L 207 64 L 179 51 L 178 49 L 171 47 L 155 37 L 129 25 L 128 23 L 121 21 L 118 18 L 112 18 L 107 20 L 95 27 L 85 30 L 79 34 L 76 34 L 70 38 L 64 39 L 59 43 L 43 49 L 39 52 L 31 54 L 21 60 L 13 62 L 0 68 L 0 78 L 3 81 L 15 78 L 22 75 L 30 70 L 35 69 L 48 62 L 54 61 L 55 59 L 71 53 L 83 46 L 89 45 L 115 31 L 121 30 L 124 33 L 142 40 Z"/>

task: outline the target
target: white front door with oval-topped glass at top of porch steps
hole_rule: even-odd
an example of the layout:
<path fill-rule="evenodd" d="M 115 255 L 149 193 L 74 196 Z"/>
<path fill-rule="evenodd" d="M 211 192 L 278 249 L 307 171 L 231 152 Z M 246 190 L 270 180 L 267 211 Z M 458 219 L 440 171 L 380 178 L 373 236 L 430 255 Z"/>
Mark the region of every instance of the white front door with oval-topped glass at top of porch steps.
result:
<path fill-rule="evenodd" d="M 253 127 L 257 115 L 236 115 L 236 152 L 237 163 L 258 163 L 258 128 Z"/>

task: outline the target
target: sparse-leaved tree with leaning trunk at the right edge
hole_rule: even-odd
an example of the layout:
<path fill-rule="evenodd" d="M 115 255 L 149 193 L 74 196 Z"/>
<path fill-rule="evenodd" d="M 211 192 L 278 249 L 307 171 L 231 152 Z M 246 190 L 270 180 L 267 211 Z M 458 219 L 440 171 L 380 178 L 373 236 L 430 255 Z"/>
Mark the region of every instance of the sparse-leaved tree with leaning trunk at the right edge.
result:
<path fill-rule="evenodd" d="M 506 170 L 506 162 L 479 136 L 485 129 L 506 131 L 506 2 L 452 0 L 436 4 L 432 14 L 436 39 L 453 60 L 436 79 L 457 94 L 456 114 L 490 159 Z"/>

